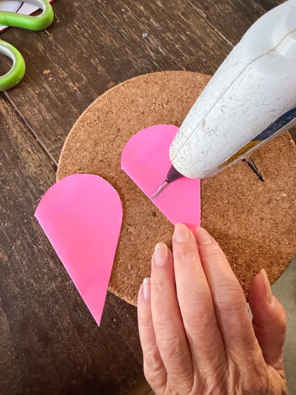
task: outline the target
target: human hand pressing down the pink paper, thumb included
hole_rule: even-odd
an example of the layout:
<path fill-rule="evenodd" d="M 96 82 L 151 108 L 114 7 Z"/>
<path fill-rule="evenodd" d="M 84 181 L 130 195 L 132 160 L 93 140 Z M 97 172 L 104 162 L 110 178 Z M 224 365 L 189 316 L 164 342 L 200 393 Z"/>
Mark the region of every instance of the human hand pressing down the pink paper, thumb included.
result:
<path fill-rule="evenodd" d="M 243 290 L 204 229 L 177 225 L 139 290 L 144 372 L 156 395 L 286 395 L 286 315 L 266 273 Z"/>

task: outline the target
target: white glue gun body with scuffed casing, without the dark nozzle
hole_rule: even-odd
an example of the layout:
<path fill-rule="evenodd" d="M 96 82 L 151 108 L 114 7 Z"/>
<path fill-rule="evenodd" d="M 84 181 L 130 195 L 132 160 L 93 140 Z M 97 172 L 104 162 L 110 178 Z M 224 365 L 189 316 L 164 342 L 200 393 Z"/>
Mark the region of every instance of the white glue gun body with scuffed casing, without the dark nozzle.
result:
<path fill-rule="evenodd" d="M 263 15 L 230 52 L 186 116 L 172 165 L 206 178 L 296 123 L 296 0 Z"/>

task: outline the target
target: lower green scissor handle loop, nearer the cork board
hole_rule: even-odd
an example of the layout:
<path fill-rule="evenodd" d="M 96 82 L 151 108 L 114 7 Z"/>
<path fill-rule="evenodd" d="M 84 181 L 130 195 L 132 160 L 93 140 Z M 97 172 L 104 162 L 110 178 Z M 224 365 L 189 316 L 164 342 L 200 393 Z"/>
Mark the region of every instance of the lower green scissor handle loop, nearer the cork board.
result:
<path fill-rule="evenodd" d="M 0 40 L 0 53 L 13 61 L 9 72 L 0 77 L 0 90 L 11 89 L 23 79 L 26 70 L 25 61 L 21 53 L 6 41 Z"/>

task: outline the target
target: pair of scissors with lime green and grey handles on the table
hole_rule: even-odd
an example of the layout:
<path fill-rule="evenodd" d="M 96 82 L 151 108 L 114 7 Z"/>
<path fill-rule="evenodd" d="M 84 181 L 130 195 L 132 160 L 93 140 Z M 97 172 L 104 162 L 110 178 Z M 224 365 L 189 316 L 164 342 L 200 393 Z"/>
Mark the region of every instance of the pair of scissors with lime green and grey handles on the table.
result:
<path fill-rule="evenodd" d="M 9 2 L 15 3 L 15 7 L 9 7 L 9 9 L 15 9 L 16 11 L 19 8 L 20 1 L 11 0 Z M 42 10 L 41 14 L 29 16 L 16 12 L 0 11 L 0 25 L 30 30 L 48 28 L 53 21 L 53 10 L 49 0 L 26 0 L 25 2 L 40 8 Z M 3 40 L 0 40 L 0 54 L 8 56 L 13 61 L 11 69 L 0 77 L 0 90 L 11 89 L 23 79 L 26 70 L 25 61 L 22 54 L 13 45 Z"/>

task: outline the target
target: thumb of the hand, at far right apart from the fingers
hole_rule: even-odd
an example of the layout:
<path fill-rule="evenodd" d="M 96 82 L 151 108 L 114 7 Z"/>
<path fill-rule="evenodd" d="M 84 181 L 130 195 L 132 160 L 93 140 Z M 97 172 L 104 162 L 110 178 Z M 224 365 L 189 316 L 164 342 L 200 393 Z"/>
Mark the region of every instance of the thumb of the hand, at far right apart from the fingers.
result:
<path fill-rule="evenodd" d="M 287 318 L 283 306 L 272 295 L 266 272 L 255 276 L 249 292 L 253 327 L 264 360 L 277 370 L 284 369 L 283 345 Z"/>

